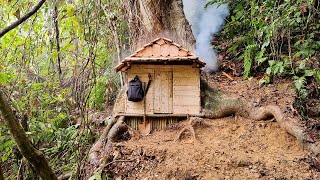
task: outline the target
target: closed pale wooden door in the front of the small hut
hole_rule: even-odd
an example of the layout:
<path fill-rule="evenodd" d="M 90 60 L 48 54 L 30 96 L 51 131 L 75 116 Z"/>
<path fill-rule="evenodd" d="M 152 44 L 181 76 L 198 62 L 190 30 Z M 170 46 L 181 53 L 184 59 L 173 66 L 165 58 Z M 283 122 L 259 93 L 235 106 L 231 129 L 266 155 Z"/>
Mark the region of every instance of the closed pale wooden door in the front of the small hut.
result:
<path fill-rule="evenodd" d="M 155 71 L 154 113 L 172 113 L 172 71 Z"/>

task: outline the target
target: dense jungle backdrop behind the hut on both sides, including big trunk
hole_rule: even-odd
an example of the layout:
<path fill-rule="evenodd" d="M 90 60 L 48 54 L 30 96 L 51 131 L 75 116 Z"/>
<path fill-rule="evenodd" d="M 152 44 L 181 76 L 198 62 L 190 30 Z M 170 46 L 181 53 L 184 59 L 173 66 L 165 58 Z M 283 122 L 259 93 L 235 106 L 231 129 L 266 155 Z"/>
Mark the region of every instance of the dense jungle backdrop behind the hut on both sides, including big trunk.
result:
<path fill-rule="evenodd" d="M 37 3 L 0 0 L 0 31 Z M 289 81 L 297 116 L 319 130 L 320 1 L 210 0 L 202 8 L 223 4 L 229 15 L 208 39 L 218 54 L 217 72 L 210 73 L 255 78 L 258 87 Z M 1 102 L 9 102 L 21 133 L 57 177 L 88 177 L 89 149 L 112 118 L 122 86 L 114 67 L 123 57 L 157 36 L 194 47 L 181 6 L 181 0 L 48 0 L 1 34 Z M 181 30 L 180 24 L 186 26 Z M 0 179 L 39 179 L 13 139 L 3 104 L 0 108 Z"/>

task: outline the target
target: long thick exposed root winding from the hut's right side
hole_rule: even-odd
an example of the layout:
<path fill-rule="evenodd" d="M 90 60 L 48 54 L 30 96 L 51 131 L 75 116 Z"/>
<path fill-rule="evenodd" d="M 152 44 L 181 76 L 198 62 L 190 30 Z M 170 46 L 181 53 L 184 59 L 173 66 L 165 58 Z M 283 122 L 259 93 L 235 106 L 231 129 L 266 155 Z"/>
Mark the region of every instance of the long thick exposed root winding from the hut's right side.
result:
<path fill-rule="evenodd" d="M 221 92 L 212 89 L 204 81 L 202 81 L 201 86 L 204 89 L 201 99 L 204 109 L 203 117 L 216 119 L 236 115 L 257 121 L 274 118 L 280 127 L 296 137 L 305 149 L 315 155 L 320 155 L 320 143 L 315 142 L 308 135 L 305 131 L 306 128 L 299 124 L 298 120 L 287 117 L 279 106 L 255 107 L 248 101 L 223 97 Z"/>

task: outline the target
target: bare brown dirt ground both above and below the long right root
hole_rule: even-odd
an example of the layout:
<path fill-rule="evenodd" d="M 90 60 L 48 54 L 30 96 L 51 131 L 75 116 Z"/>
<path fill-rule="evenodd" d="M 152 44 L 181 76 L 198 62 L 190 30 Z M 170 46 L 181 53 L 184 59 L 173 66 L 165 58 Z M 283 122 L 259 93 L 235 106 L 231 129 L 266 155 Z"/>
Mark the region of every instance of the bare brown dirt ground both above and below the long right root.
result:
<path fill-rule="evenodd" d="M 255 106 L 279 105 L 299 118 L 292 107 L 290 81 L 260 87 L 257 79 L 230 81 L 221 73 L 207 77 L 209 85 L 232 98 L 246 98 Z M 297 140 L 272 121 L 241 117 L 205 119 L 208 127 L 195 129 L 197 141 L 184 136 L 181 126 L 131 133 L 115 144 L 104 173 L 115 179 L 319 179 L 313 157 Z M 303 123 L 302 123 L 303 124 Z"/>

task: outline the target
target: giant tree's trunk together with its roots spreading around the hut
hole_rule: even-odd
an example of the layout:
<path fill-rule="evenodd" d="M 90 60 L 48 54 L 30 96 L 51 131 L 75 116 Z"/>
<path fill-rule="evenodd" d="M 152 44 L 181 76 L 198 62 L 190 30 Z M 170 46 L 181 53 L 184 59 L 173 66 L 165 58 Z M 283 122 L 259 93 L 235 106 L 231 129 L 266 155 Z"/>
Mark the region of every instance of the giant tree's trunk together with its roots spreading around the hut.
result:
<path fill-rule="evenodd" d="M 127 10 L 126 19 L 129 27 L 131 51 L 135 51 L 159 36 L 170 38 L 189 50 L 194 49 L 195 38 L 185 18 L 182 0 L 127 0 L 123 1 L 123 4 Z M 279 107 L 267 106 L 252 109 L 247 101 L 216 97 L 215 93 L 205 89 L 203 89 L 205 98 L 202 98 L 202 103 L 204 104 L 203 108 L 207 111 L 203 117 L 214 119 L 235 114 L 254 120 L 274 117 L 282 128 L 295 136 L 307 149 L 315 154 L 320 153 L 320 144 L 308 142 L 307 134 L 303 128 L 296 125 L 290 118 L 284 117 Z M 123 104 L 124 95 L 119 93 L 117 101 Z M 192 125 L 192 123 L 190 124 Z M 108 164 L 105 161 L 110 161 L 106 156 L 111 152 L 113 139 L 119 135 L 118 132 L 126 130 L 122 125 L 123 117 L 114 119 L 108 124 L 100 139 L 90 150 L 90 164 L 102 168 Z M 192 131 L 192 128 L 189 129 Z M 192 133 L 195 134 L 195 131 Z"/>

